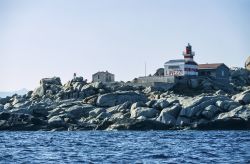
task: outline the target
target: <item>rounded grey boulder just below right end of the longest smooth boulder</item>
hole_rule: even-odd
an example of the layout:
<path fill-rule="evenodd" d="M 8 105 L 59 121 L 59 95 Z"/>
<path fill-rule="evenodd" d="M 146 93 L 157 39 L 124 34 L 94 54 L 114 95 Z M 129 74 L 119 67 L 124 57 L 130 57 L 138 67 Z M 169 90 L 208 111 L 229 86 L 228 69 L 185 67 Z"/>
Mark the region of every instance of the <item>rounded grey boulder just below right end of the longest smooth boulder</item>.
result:
<path fill-rule="evenodd" d="M 130 111 L 131 118 L 138 118 L 140 116 L 146 118 L 154 118 L 159 114 L 159 111 L 154 108 L 138 107 Z"/>

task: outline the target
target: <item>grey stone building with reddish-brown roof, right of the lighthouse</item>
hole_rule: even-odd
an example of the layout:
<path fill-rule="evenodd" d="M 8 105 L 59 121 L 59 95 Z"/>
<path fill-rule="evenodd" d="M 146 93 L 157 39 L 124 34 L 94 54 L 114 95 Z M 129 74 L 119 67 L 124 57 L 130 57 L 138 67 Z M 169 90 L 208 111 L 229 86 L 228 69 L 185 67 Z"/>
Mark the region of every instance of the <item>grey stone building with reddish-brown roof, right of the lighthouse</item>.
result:
<path fill-rule="evenodd" d="M 198 72 L 199 76 L 229 83 L 230 69 L 224 63 L 199 64 Z"/>

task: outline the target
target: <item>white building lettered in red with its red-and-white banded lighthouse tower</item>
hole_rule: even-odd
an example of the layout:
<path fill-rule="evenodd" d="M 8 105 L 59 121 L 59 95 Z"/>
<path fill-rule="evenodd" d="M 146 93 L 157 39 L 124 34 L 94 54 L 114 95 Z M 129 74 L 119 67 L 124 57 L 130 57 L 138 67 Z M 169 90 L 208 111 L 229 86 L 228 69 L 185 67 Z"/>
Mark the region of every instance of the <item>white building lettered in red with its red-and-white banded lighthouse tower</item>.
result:
<path fill-rule="evenodd" d="M 193 60 L 194 52 L 188 43 L 183 52 L 184 59 L 169 60 L 164 64 L 164 76 L 198 76 L 198 64 Z"/>

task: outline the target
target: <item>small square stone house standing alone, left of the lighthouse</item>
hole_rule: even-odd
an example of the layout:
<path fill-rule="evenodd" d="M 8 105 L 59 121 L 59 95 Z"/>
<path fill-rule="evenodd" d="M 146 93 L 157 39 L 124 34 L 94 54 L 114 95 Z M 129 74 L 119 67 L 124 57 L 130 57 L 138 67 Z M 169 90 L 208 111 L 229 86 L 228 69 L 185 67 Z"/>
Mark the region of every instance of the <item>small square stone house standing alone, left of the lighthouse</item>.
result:
<path fill-rule="evenodd" d="M 97 72 L 92 75 L 93 82 L 103 82 L 103 83 L 110 83 L 115 81 L 115 75 L 112 73 L 106 72 Z"/>

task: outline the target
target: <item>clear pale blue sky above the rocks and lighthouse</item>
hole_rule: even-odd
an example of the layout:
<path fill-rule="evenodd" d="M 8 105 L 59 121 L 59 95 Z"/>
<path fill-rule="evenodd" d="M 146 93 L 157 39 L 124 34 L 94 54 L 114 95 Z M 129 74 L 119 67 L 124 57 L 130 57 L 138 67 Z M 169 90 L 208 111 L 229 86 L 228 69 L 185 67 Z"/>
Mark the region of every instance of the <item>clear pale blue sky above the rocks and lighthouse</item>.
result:
<path fill-rule="evenodd" d="M 250 0 L 0 0 L 0 91 L 97 71 L 129 81 L 187 43 L 197 63 L 243 67 L 250 55 Z"/>

